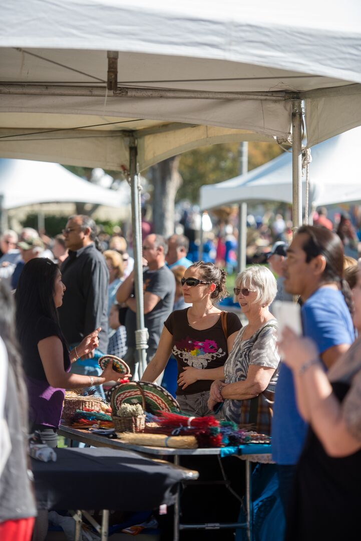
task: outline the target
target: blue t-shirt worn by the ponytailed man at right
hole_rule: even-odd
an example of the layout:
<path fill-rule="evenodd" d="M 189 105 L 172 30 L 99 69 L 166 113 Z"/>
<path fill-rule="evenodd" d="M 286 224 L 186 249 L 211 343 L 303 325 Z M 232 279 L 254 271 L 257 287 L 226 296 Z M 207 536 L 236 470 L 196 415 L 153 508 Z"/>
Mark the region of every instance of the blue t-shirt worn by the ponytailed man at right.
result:
<path fill-rule="evenodd" d="M 303 334 L 316 342 L 319 354 L 355 339 L 343 294 L 329 287 L 317 289 L 301 309 Z M 290 368 L 280 364 L 272 421 L 272 457 L 277 464 L 296 464 L 302 451 L 307 424 L 296 406 Z"/>

